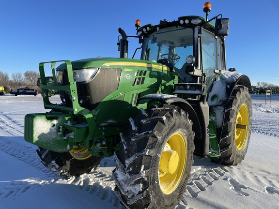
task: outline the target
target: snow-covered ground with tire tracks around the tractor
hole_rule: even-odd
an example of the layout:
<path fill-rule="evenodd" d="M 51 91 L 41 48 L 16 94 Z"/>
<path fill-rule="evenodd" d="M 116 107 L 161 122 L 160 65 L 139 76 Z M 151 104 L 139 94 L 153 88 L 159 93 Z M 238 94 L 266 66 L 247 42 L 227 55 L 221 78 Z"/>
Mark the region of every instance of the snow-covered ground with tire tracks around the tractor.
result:
<path fill-rule="evenodd" d="M 177 209 L 279 208 L 279 95 L 251 95 L 253 122 L 245 160 L 237 166 L 195 157 Z M 59 103 L 59 97 L 51 98 Z M 113 192 L 115 161 L 66 179 L 48 171 L 36 146 L 24 141 L 24 116 L 46 112 L 42 97 L 0 96 L 0 209 L 123 209 Z"/>

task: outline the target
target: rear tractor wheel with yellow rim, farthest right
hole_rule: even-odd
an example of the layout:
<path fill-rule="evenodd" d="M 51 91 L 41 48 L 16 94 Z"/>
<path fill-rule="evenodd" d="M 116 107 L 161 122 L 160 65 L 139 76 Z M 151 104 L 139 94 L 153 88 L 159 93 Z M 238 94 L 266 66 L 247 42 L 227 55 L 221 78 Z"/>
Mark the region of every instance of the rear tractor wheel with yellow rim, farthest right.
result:
<path fill-rule="evenodd" d="M 212 161 L 237 165 L 245 157 L 252 128 L 252 104 L 248 89 L 236 86 L 225 105 L 223 131 L 219 143 L 221 156 Z"/>

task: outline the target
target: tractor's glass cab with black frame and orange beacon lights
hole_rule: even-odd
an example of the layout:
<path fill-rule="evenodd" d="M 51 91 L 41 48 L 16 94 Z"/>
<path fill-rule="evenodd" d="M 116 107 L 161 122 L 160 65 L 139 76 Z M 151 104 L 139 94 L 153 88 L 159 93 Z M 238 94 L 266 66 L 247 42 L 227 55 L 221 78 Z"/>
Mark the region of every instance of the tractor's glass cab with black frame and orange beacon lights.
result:
<path fill-rule="evenodd" d="M 178 73 L 179 83 L 195 84 L 194 88 L 200 84 L 202 94 L 206 94 L 217 74 L 226 70 L 224 37 L 229 33 L 229 19 L 217 15 L 207 20 L 210 10 L 206 2 L 206 19 L 182 16 L 142 27 L 136 20 L 137 35 L 143 37 L 140 59 L 166 65 Z M 214 19 L 216 24 L 211 22 Z"/>

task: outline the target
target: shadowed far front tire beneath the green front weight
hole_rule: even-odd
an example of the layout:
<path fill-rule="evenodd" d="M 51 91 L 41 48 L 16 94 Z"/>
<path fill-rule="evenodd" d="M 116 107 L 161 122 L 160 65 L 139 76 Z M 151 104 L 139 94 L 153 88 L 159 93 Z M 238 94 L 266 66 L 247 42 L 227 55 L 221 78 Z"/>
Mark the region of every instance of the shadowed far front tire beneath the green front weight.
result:
<path fill-rule="evenodd" d="M 89 173 L 101 161 L 100 157 L 91 155 L 84 148 L 73 148 L 70 152 L 59 153 L 39 147 L 37 154 L 50 171 L 66 176 Z"/>

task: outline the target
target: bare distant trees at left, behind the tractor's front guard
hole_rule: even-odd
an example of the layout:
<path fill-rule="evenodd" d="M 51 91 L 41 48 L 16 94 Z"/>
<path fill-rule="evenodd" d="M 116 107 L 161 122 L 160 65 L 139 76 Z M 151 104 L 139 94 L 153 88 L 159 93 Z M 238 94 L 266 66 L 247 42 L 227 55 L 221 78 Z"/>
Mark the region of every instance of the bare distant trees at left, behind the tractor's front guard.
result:
<path fill-rule="evenodd" d="M 36 86 L 37 79 L 40 74 L 35 71 L 26 71 L 24 74 L 21 72 L 12 73 L 12 77 L 8 73 L 0 71 L 0 86 L 8 93 L 11 90 L 17 90 L 20 87 L 29 87 L 30 89 L 39 90 Z"/>

